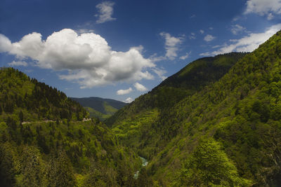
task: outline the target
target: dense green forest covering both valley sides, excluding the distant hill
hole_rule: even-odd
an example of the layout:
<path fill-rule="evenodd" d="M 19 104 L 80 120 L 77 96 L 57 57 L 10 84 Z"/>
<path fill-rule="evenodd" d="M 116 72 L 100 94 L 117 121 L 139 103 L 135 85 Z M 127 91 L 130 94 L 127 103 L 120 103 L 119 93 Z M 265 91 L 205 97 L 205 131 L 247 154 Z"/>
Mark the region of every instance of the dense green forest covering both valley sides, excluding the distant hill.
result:
<path fill-rule="evenodd" d="M 281 185 L 281 32 L 191 62 L 105 123 L 12 68 L 0 101 L 1 186 Z"/>

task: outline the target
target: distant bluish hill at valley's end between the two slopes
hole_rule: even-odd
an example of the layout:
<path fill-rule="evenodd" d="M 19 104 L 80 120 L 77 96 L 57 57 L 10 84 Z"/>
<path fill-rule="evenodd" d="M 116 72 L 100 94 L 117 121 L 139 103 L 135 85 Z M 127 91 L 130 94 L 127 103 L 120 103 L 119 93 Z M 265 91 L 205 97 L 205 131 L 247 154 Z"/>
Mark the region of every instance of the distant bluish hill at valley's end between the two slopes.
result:
<path fill-rule="evenodd" d="M 109 118 L 119 109 L 127 105 L 125 102 L 119 102 L 115 99 L 103 99 L 100 97 L 72 97 L 71 99 L 84 106 L 91 117 L 100 118 L 100 120 Z"/>

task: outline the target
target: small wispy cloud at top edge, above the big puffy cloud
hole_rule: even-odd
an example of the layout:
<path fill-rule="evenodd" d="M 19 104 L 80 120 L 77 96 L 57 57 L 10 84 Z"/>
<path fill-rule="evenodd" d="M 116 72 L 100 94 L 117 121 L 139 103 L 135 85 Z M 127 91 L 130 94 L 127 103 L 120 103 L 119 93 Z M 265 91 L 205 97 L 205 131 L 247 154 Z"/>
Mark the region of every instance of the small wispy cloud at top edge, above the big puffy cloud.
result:
<path fill-rule="evenodd" d="M 97 23 L 116 20 L 116 18 L 112 18 L 114 4 L 115 3 L 111 1 L 103 1 L 103 3 L 100 3 L 96 6 L 99 13 L 96 14 L 96 17 L 98 17 L 98 20 L 96 21 Z"/>

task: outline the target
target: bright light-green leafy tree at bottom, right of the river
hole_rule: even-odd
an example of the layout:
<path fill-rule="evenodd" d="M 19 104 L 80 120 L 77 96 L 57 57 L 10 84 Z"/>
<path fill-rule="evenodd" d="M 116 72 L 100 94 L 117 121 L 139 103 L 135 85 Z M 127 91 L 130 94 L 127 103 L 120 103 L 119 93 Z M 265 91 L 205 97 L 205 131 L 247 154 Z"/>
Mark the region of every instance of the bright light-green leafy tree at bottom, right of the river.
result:
<path fill-rule="evenodd" d="M 251 186 L 213 139 L 204 139 L 186 160 L 180 186 Z"/>

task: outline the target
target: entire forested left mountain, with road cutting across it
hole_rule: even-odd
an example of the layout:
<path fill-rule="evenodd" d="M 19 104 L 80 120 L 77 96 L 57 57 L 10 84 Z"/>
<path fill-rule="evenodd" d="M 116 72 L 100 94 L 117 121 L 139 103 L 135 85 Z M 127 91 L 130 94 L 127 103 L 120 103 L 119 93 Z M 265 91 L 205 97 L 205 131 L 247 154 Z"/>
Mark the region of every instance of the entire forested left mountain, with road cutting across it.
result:
<path fill-rule="evenodd" d="M 0 69 L 0 186 L 134 186 L 141 159 L 65 93 Z"/>

